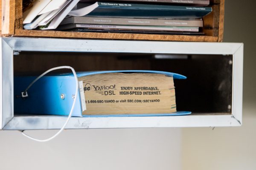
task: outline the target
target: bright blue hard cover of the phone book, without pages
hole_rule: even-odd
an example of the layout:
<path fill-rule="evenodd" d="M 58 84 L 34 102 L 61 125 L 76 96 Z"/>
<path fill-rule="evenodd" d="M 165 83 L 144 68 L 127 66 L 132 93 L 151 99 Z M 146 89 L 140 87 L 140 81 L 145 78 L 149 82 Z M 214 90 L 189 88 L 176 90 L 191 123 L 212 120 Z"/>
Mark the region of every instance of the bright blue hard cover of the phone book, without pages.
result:
<path fill-rule="evenodd" d="M 165 74 L 174 79 L 186 79 L 185 76 L 165 71 L 146 70 L 121 70 L 121 71 L 87 71 L 77 73 L 77 77 L 104 73 L 154 73 Z M 19 97 L 28 85 L 36 77 L 14 77 L 14 112 L 15 114 L 40 114 L 68 116 L 73 105 L 73 97 L 76 90 L 76 82 L 73 74 L 58 74 L 44 76 L 38 79 L 28 91 L 29 97 Z M 83 88 L 82 88 L 83 89 Z M 61 99 L 61 94 L 65 98 Z M 150 114 L 111 114 L 111 115 L 82 115 L 82 102 L 80 93 L 76 98 L 75 108 L 72 116 L 83 117 L 115 117 L 115 116 L 178 116 L 187 115 L 189 111 L 177 111 L 175 113 L 150 113 Z"/>

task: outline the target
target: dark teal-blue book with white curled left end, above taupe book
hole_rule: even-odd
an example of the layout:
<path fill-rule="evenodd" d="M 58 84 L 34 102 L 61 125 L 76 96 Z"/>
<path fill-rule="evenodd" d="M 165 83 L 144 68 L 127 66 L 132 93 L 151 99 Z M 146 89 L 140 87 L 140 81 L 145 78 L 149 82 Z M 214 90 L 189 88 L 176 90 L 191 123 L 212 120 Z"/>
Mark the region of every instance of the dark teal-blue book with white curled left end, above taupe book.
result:
<path fill-rule="evenodd" d="M 211 11 L 211 7 L 96 2 L 93 5 L 72 10 L 69 15 L 78 17 L 201 18 Z"/>

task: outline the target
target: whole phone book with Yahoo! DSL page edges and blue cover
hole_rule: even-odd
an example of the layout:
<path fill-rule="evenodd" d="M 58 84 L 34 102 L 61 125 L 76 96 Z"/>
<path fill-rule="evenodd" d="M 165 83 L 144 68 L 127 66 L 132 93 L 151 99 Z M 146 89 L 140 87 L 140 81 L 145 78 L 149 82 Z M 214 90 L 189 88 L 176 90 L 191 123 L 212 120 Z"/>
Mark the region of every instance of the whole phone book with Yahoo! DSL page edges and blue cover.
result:
<path fill-rule="evenodd" d="M 164 71 L 89 71 L 77 73 L 79 96 L 72 116 L 174 116 L 177 111 L 173 79 L 186 79 Z M 15 114 L 67 116 L 73 104 L 76 82 L 72 74 L 14 78 Z"/>

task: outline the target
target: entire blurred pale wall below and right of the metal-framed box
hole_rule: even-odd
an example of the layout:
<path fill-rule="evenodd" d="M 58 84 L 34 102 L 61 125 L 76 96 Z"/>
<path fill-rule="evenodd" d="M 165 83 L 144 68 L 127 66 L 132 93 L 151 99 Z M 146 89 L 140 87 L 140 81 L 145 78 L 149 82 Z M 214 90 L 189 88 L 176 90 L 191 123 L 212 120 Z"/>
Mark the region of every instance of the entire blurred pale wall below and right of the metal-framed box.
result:
<path fill-rule="evenodd" d="M 241 127 L 65 130 L 38 143 L 0 131 L 0 169 L 256 169 L 255 1 L 226 0 L 225 42 L 244 42 Z M 46 138 L 55 130 L 27 132 Z"/>

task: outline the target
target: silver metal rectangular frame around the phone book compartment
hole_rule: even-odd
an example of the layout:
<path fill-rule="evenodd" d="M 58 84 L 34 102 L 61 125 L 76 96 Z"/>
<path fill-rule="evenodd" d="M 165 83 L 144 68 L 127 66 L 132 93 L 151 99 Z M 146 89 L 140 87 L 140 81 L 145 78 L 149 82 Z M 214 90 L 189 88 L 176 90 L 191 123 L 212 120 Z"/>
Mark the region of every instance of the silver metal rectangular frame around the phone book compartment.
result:
<path fill-rule="evenodd" d="M 243 44 L 219 42 L 163 42 L 126 40 L 77 40 L 53 38 L 1 38 L 0 129 L 59 129 L 66 116 L 14 116 L 13 55 L 18 51 L 118 52 L 152 54 L 233 55 L 233 102 L 231 115 L 148 117 L 72 117 L 67 129 L 131 127 L 215 127 L 242 123 Z"/>

